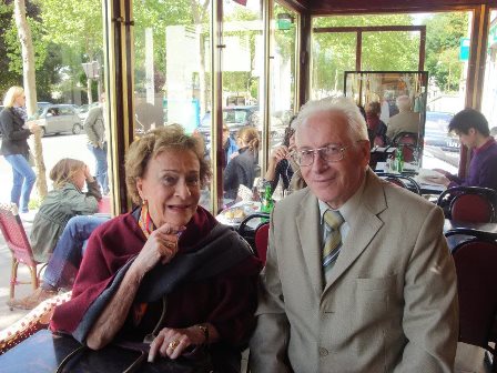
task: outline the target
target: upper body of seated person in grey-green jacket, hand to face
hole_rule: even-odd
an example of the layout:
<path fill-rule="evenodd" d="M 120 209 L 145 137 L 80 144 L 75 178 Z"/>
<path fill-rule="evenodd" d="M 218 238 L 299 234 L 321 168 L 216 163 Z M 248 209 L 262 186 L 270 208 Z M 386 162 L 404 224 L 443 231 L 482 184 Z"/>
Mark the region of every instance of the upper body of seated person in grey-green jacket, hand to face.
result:
<path fill-rule="evenodd" d="M 93 214 L 102 199 L 99 184 L 88 165 L 75 159 L 64 158 L 50 171 L 51 190 L 34 215 L 30 234 L 37 262 L 47 263 L 69 219 Z M 87 184 L 88 192 L 83 192 Z"/>

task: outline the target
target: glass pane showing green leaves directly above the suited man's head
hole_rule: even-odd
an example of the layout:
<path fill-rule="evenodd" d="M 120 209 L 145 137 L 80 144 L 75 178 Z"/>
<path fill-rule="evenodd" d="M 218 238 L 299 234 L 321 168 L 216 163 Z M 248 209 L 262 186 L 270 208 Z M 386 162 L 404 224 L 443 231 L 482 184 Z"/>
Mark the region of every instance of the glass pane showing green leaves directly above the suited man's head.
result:
<path fill-rule="evenodd" d="M 344 71 L 355 70 L 355 32 L 314 33 L 312 41 L 313 100 L 343 93 Z"/>

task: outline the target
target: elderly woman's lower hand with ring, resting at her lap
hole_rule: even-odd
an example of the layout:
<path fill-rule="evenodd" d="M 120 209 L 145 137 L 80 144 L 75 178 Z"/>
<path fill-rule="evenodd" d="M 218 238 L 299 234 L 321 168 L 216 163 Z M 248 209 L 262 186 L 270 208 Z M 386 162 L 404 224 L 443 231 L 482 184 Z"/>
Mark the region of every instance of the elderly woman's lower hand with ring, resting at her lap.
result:
<path fill-rule="evenodd" d="M 197 325 L 186 329 L 164 327 L 150 344 L 149 362 L 153 362 L 158 353 L 161 356 L 176 359 L 189 346 L 204 342 L 205 335 Z"/>

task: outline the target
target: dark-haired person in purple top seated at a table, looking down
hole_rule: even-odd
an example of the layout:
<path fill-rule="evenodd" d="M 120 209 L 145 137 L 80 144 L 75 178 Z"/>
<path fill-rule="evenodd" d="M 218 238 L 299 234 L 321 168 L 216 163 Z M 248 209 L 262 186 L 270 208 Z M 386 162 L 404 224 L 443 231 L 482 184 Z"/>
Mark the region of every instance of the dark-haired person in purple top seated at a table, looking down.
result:
<path fill-rule="evenodd" d="M 488 121 L 480 112 L 474 109 L 459 111 L 450 120 L 448 131 L 455 132 L 459 137 L 462 144 L 471 151 L 466 178 L 459 178 L 447 171 L 435 169 L 443 175 L 430 178 L 432 182 L 447 188 L 483 186 L 497 191 L 497 143 L 490 135 Z"/>

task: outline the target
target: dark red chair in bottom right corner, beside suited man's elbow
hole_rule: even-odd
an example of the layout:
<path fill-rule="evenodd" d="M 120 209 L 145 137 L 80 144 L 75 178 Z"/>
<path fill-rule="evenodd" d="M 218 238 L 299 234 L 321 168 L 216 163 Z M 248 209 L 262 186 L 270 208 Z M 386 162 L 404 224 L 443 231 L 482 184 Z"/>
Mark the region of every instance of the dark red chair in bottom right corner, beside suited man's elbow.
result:
<path fill-rule="evenodd" d="M 459 300 L 459 342 L 485 349 L 494 356 L 491 372 L 497 372 L 497 234 L 474 229 L 454 229 L 446 238 L 464 234 L 452 252 L 457 272 Z"/>

